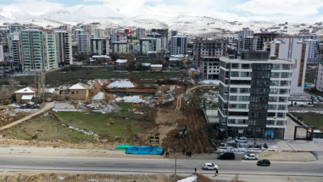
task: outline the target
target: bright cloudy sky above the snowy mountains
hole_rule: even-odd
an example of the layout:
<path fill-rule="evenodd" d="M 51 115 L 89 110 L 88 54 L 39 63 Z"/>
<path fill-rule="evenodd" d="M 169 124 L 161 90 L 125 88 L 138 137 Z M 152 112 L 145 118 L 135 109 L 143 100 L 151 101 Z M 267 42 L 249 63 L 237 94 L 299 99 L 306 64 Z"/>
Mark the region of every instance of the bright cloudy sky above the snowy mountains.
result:
<path fill-rule="evenodd" d="M 15 6 L 42 15 L 82 5 L 112 6 L 131 16 L 153 12 L 162 16 L 210 16 L 229 21 L 263 20 L 282 23 L 323 21 L 323 0 L 0 0 L 0 7 Z M 138 11 L 138 10 L 142 11 Z M 95 12 L 93 12 L 95 13 Z"/>

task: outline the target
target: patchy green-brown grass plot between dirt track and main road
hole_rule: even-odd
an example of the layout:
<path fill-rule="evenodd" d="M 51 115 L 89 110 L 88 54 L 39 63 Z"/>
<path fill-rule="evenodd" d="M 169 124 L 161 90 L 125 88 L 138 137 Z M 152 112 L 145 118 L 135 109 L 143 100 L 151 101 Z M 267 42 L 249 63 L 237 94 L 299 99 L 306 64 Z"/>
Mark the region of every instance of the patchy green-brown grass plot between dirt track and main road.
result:
<path fill-rule="evenodd" d="M 151 115 L 151 113 L 134 114 L 129 112 L 129 109 L 138 109 L 139 107 L 131 106 L 131 103 L 118 104 L 122 108 L 122 111 L 119 113 L 101 114 L 98 112 L 51 111 L 50 115 L 32 119 L 6 130 L 4 135 L 5 137 L 24 140 L 62 140 L 71 143 L 81 141 L 97 142 L 92 136 L 67 128 L 62 125 L 63 123 L 83 129 L 86 132 L 94 132 L 101 139 L 108 139 L 109 142 L 122 140 L 122 142 L 132 144 L 136 134 L 142 133 L 154 126 L 152 122 L 145 119 L 149 118 L 148 115 Z"/>

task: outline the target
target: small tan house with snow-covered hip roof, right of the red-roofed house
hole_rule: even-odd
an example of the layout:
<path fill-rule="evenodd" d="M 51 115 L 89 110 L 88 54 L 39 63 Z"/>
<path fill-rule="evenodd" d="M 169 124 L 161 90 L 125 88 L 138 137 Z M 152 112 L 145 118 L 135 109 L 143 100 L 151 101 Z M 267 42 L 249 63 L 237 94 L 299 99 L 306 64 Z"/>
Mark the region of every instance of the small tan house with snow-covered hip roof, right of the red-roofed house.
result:
<path fill-rule="evenodd" d="M 78 83 L 68 88 L 69 100 L 87 100 L 89 96 L 89 85 Z"/>

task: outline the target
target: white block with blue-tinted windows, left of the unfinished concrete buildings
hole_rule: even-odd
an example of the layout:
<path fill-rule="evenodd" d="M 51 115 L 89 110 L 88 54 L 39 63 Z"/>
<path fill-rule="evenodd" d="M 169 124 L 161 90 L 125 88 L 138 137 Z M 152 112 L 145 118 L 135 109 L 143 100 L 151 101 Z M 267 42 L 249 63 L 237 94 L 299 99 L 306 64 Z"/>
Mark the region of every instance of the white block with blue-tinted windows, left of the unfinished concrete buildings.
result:
<path fill-rule="evenodd" d="M 171 55 L 185 55 L 187 53 L 187 39 L 183 35 L 173 36 L 171 39 Z"/>

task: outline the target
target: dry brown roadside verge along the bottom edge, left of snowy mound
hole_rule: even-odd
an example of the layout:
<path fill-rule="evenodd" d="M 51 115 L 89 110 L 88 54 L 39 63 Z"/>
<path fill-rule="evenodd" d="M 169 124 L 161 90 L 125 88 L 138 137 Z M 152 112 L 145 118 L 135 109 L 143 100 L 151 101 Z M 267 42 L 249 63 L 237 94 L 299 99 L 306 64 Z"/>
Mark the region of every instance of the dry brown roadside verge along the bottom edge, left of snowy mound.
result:
<path fill-rule="evenodd" d="M 8 182 L 176 182 L 180 176 L 175 175 L 115 175 L 115 174 L 87 174 L 87 173 L 33 173 L 15 172 L 0 174 L 0 181 Z"/>

